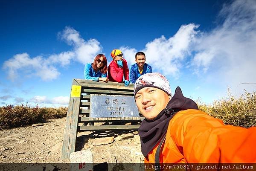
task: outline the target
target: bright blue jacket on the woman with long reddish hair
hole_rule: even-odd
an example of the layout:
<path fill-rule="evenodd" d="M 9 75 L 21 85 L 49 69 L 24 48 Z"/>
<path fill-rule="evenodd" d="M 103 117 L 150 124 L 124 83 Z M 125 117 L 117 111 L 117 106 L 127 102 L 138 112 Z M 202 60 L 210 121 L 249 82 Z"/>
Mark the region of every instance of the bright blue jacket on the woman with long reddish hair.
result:
<path fill-rule="evenodd" d="M 99 81 L 99 77 L 107 77 L 107 72 L 102 74 L 100 71 L 95 72 L 92 64 L 86 64 L 84 66 L 84 78 L 86 80 Z"/>

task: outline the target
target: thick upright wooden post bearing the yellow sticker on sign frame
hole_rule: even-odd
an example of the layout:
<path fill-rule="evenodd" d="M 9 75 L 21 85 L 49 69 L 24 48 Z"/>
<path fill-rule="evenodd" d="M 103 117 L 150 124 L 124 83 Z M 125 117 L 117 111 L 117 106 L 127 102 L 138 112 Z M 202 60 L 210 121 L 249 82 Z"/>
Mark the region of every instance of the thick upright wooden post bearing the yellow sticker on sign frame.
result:
<path fill-rule="evenodd" d="M 80 84 L 73 79 L 72 85 Z M 61 150 L 62 159 L 69 159 L 70 154 L 75 151 L 80 100 L 81 96 L 71 97 L 70 93 L 70 102 L 67 110 L 66 126 Z"/>

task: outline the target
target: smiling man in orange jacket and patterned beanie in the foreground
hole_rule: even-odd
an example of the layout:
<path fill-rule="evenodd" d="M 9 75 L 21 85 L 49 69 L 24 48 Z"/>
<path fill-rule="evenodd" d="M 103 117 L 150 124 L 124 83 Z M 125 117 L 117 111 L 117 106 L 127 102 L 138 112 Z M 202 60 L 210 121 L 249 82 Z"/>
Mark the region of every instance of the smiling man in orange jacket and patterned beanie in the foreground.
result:
<path fill-rule="evenodd" d="M 159 73 L 141 75 L 134 84 L 138 109 L 145 119 L 139 128 L 145 163 L 254 163 L 256 127 L 224 125 L 198 110 Z"/>

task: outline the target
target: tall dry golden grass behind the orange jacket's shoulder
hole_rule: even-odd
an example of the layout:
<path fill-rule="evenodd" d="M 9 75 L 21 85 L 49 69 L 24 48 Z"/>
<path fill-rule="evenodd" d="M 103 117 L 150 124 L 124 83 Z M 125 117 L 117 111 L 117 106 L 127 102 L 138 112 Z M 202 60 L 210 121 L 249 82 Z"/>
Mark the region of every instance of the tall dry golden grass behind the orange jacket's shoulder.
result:
<path fill-rule="evenodd" d="M 232 96 L 228 89 L 228 97 L 214 101 L 212 105 L 198 103 L 200 110 L 223 120 L 224 124 L 249 128 L 256 126 L 256 92 Z"/>

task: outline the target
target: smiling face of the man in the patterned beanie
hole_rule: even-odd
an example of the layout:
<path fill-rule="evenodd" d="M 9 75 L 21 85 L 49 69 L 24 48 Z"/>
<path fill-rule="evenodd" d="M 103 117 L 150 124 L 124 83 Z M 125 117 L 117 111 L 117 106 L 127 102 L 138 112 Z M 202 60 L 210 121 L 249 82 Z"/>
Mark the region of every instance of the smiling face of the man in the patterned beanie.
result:
<path fill-rule="evenodd" d="M 149 120 L 154 119 L 166 107 L 169 100 L 167 93 L 155 87 L 144 87 L 135 95 L 140 113 Z"/>

